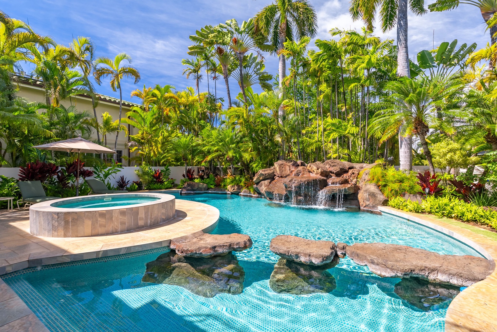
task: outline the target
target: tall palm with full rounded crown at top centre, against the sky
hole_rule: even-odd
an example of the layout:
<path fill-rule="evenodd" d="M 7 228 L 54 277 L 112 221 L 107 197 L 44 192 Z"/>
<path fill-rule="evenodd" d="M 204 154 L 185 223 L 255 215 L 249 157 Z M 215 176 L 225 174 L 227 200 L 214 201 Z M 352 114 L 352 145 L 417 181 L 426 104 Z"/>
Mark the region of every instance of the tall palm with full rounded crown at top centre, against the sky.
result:
<path fill-rule="evenodd" d="M 286 76 L 284 42 L 314 37 L 318 32 L 318 16 L 307 0 L 276 0 L 262 8 L 254 17 L 255 30 L 270 38 L 274 52 L 279 56 L 279 89 L 283 91 Z M 280 110 L 280 112 L 282 109 Z"/>

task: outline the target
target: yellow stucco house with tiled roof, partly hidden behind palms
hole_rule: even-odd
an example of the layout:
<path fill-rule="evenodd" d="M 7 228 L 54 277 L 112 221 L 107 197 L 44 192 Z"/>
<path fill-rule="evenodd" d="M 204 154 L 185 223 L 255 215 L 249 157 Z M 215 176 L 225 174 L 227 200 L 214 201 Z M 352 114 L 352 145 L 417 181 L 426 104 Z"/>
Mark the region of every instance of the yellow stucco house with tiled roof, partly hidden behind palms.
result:
<path fill-rule="evenodd" d="M 19 75 L 14 75 L 14 83 L 18 86 L 19 91 L 17 96 L 27 99 L 28 101 L 38 101 L 45 102 L 45 89 L 43 88 L 43 83 L 34 78 L 23 77 Z M 119 119 L 119 99 L 96 94 L 98 98 L 98 105 L 96 106 L 96 114 L 99 122 L 102 120 L 102 113 L 109 112 L 113 120 Z M 71 105 L 76 106 L 80 111 L 87 110 L 90 114 L 93 114 L 93 106 L 91 104 L 91 97 L 85 94 L 80 94 L 71 98 L 67 98 L 61 101 L 61 104 L 65 107 Z M 130 110 L 133 106 L 140 106 L 139 104 L 125 101 L 122 102 L 122 117 L 126 116 L 126 112 Z M 133 135 L 133 127 L 128 126 L 130 135 Z M 136 130 L 136 129 L 135 129 Z M 97 139 L 96 132 L 93 132 L 91 139 Z M 107 144 L 109 148 L 114 148 L 114 141 L 116 136 L 114 134 L 107 135 Z M 117 140 L 117 157 L 118 161 L 122 162 L 124 166 L 134 166 L 127 165 L 127 161 L 122 159 L 122 156 L 131 157 L 130 149 L 128 146 L 128 135 L 124 132 L 120 132 Z"/>

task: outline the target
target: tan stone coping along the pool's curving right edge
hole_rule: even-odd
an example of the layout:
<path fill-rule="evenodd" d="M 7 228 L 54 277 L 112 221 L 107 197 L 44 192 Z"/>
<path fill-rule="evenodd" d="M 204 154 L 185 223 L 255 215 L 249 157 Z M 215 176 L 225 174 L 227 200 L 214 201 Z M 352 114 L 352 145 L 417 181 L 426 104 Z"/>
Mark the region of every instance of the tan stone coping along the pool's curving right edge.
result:
<path fill-rule="evenodd" d="M 457 239 L 494 261 L 497 241 L 469 229 L 417 213 L 380 206 L 382 213 L 395 215 L 432 228 Z M 464 225 L 461 223 L 461 225 Z M 497 269 L 486 279 L 459 293 L 449 305 L 445 316 L 446 332 L 497 332 Z"/>

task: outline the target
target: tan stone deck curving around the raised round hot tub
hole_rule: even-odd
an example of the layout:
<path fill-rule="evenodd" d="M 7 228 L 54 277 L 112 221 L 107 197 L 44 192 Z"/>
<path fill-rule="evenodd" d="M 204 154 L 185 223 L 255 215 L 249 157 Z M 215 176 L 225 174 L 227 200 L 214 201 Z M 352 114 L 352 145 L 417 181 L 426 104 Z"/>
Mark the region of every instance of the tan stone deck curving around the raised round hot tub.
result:
<path fill-rule="evenodd" d="M 211 232 L 219 210 L 176 199 L 176 216 L 164 224 L 115 235 L 44 238 L 29 233 L 29 212 L 0 213 L 0 275 L 26 267 L 111 256 L 169 245 L 169 240 L 195 232 Z"/>

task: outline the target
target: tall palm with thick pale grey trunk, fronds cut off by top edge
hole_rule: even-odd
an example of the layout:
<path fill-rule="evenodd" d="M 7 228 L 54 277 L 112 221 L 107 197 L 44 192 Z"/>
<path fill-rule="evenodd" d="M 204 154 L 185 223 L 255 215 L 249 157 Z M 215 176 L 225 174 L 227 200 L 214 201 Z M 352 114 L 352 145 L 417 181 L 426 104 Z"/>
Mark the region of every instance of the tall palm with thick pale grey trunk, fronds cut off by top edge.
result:
<path fill-rule="evenodd" d="M 373 22 L 379 7 L 383 32 L 397 25 L 397 75 L 409 78 L 407 12 L 409 7 L 416 15 L 425 13 L 424 0 L 352 0 L 350 13 L 354 20 L 361 18 L 366 24 L 366 29 L 373 31 Z M 402 110 L 399 109 L 399 112 Z M 407 133 L 407 136 L 402 136 L 402 133 Z M 409 133 L 408 130 L 399 130 L 400 169 L 404 171 L 413 168 L 413 138 Z"/>

